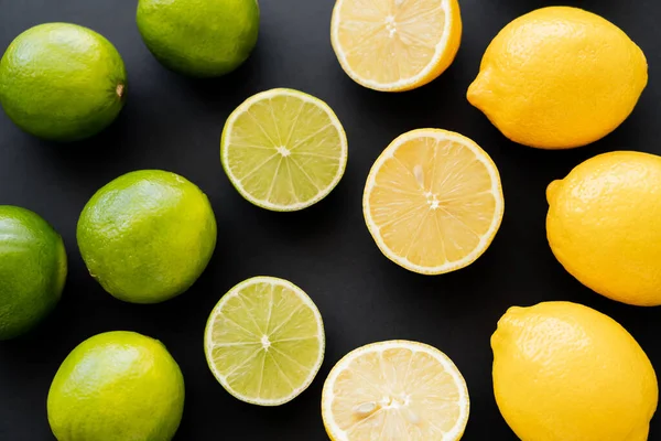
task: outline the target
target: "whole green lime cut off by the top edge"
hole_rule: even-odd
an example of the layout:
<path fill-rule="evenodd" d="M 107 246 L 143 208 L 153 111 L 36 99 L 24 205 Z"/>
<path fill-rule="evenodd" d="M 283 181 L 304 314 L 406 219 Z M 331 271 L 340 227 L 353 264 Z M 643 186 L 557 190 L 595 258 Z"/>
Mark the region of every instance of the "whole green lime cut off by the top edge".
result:
<path fill-rule="evenodd" d="M 167 68 L 216 77 L 239 67 L 257 44 L 257 0 L 139 0 L 138 29 Z"/>

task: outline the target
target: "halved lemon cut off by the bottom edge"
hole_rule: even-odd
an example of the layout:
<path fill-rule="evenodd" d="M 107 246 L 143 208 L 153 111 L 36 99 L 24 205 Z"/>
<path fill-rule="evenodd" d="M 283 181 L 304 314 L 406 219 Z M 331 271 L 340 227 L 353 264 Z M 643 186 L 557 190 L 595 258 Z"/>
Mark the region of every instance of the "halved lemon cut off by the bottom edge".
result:
<path fill-rule="evenodd" d="M 455 441 L 468 421 L 466 381 L 441 351 L 390 341 L 362 346 L 330 370 L 322 417 L 333 441 Z"/>

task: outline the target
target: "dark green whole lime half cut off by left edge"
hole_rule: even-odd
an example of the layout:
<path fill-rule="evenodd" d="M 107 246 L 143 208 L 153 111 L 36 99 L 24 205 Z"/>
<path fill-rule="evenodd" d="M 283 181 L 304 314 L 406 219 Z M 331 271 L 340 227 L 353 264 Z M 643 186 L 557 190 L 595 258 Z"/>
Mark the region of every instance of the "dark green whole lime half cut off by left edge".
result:
<path fill-rule="evenodd" d="M 0 340 L 28 332 L 46 316 L 65 280 L 62 237 L 37 214 L 0 205 Z"/>

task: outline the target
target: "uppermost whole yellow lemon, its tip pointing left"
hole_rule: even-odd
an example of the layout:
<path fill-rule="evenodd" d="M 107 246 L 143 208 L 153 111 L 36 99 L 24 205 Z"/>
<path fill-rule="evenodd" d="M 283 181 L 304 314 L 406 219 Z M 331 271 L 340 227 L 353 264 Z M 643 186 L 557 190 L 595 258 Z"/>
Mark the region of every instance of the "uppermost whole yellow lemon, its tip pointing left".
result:
<path fill-rule="evenodd" d="M 514 142 L 568 149 L 615 130 L 647 80 L 644 54 L 619 28 L 581 9 L 550 7 L 500 31 L 468 100 Z"/>

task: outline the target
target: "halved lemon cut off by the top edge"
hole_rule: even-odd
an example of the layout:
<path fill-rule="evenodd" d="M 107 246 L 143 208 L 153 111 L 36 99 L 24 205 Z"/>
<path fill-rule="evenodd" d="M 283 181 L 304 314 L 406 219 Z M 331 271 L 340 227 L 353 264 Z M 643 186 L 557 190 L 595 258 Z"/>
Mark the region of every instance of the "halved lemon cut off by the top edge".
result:
<path fill-rule="evenodd" d="M 375 90 L 403 92 L 435 79 L 462 42 L 457 0 L 337 0 L 330 41 L 342 68 Z"/>

